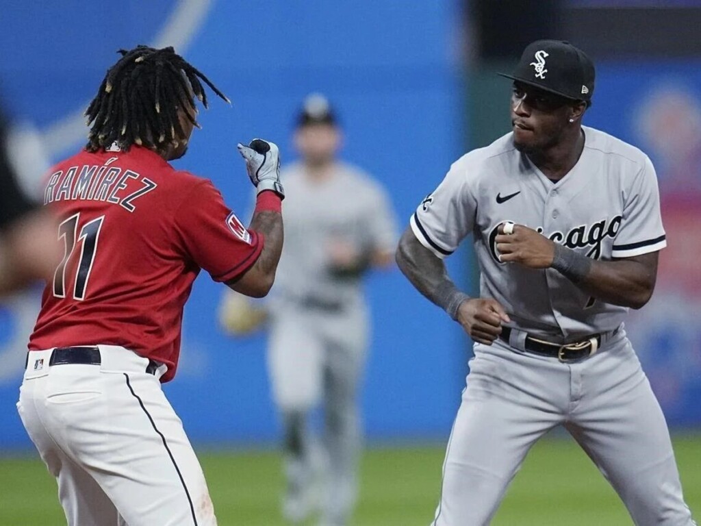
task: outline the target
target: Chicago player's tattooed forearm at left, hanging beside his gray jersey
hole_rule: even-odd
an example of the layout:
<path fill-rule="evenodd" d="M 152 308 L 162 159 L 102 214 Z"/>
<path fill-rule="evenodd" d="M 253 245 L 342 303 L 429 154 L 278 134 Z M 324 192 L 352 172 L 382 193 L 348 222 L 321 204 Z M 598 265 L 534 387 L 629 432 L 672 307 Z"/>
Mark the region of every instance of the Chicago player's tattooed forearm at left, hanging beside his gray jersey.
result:
<path fill-rule="evenodd" d="M 448 276 L 442 259 L 436 257 L 414 236 L 411 229 L 404 231 L 395 254 L 397 266 L 412 285 L 426 298 L 457 319 L 458 307 L 469 299 Z"/>

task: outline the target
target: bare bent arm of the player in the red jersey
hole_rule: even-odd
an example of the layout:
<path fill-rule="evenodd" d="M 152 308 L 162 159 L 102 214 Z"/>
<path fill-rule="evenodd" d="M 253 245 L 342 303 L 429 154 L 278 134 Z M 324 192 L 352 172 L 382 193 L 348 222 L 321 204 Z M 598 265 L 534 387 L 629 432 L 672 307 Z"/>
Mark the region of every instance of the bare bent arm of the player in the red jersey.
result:
<path fill-rule="evenodd" d="M 275 281 L 280 253 L 283 251 L 283 215 L 273 210 L 256 210 L 250 230 L 265 238 L 263 251 L 242 276 L 227 281 L 229 288 L 251 297 L 264 297 Z"/>

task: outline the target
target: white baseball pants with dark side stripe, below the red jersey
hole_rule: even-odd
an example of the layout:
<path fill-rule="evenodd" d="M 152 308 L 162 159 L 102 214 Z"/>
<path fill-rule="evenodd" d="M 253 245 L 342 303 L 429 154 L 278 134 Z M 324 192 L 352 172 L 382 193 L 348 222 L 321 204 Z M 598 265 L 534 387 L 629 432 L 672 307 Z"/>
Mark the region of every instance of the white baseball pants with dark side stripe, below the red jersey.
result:
<path fill-rule="evenodd" d="M 100 345 L 100 365 L 30 351 L 17 404 L 69 526 L 215 526 L 205 478 L 149 360 Z"/>

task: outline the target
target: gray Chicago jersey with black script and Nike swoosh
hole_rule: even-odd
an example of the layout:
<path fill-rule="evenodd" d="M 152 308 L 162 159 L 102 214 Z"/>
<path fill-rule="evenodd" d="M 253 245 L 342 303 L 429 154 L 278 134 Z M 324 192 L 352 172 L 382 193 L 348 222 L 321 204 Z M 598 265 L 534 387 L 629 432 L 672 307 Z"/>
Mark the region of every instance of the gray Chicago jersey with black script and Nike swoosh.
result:
<path fill-rule="evenodd" d="M 509 133 L 458 159 L 411 217 L 416 238 L 441 258 L 472 233 L 480 295 L 500 302 L 511 325 L 536 335 L 573 339 L 613 330 L 627 308 L 594 301 L 554 269 L 499 262 L 494 239 L 502 222 L 524 224 L 594 259 L 666 245 L 648 156 L 599 130 L 582 129 L 584 150 L 562 180 L 548 180 L 515 149 Z"/>

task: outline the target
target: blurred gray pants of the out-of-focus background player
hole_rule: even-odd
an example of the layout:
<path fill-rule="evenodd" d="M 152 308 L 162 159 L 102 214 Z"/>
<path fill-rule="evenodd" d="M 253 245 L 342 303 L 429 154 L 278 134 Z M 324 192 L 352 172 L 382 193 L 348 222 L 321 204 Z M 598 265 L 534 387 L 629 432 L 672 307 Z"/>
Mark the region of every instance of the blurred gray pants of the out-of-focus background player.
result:
<path fill-rule="evenodd" d="M 308 485 L 320 464 L 325 468 L 322 513 L 330 524 L 345 524 L 357 495 L 361 433 L 358 384 L 365 364 L 365 311 L 342 315 L 304 309 L 285 309 L 273 317 L 268 367 L 275 403 L 286 429 L 288 483 Z M 325 431 L 320 444 L 306 420 L 322 405 Z M 295 416 L 297 415 L 297 416 Z M 296 436 L 295 436 L 296 435 Z M 299 480 L 290 480 L 290 477 Z"/>

